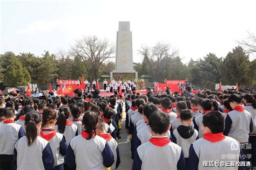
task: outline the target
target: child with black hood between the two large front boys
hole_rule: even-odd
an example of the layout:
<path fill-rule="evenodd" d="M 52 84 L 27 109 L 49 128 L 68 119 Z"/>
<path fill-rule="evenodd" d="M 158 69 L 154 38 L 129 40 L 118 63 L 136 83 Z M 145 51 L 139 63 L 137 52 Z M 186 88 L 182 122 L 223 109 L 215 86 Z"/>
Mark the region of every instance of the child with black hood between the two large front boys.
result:
<path fill-rule="evenodd" d="M 182 148 L 187 165 L 190 145 L 198 139 L 198 131 L 191 125 L 193 121 L 191 110 L 182 110 L 180 120 L 181 125 L 173 131 L 172 141 Z"/>

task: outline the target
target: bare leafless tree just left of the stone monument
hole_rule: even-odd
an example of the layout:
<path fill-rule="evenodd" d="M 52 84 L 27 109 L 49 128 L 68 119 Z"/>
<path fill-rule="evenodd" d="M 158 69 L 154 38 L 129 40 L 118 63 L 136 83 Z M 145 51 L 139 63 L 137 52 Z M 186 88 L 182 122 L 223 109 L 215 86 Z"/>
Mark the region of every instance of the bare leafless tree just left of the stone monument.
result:
<path fill-rule="evenodd" d="M 96 36 L 83 37 L 76 41 L 71 53 L 80 56 L 86 66 L 89 80 L 99 78 L 99 68 L 102 63 L 110 58 L 115 51 L 115 46 L 108 40 L 98 39 Z"/>

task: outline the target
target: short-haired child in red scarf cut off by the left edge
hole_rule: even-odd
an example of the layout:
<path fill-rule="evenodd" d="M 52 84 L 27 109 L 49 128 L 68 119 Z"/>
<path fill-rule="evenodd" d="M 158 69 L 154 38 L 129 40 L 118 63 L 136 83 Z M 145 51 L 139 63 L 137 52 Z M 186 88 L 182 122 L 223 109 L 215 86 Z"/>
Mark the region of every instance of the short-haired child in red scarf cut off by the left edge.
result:
<path fill-rule="evenodd" d="M 14 122 L 14 109 L 5 108 L 3 116 L 3 124 L 0 124 L 0 169 L 12 169 L 14 146 L 25 135 L 25 131 Z"/>

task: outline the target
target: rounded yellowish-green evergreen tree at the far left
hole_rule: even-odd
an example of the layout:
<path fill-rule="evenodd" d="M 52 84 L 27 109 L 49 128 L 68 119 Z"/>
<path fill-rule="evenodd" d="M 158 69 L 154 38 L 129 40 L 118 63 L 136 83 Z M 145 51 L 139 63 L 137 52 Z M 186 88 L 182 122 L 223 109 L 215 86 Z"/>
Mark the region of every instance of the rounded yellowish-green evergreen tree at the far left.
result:
<path fill-rule="evenodd" d="M 4 74 L 5 86 L 26 86 L 30 81 L 31 77 L 28 70 L 22 67 L 22 63 L 18 60 L 12 61 L 6 68 L 6 73 Z"/>

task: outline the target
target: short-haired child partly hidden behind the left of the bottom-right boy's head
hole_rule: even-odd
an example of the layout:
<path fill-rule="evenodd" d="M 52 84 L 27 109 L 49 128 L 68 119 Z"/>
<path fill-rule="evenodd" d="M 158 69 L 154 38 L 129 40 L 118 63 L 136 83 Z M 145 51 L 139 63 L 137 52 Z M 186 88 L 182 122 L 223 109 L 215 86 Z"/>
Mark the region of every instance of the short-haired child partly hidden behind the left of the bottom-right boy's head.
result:
<path fill-rule="evenodd" d="M 208 98 L 204 98 L 201 101 L 200 106 L 201 106 L 202 114 L 195 117 L 193 119 L 193 123 L 194 123 L 194 129 L 198 131 L 198 137 L 203 138 L 203 132 L 200 127 L 202 126 L 203 116 L 207 114 L 207 112 L 211 111 L 212 109 L 212 101 Z"/>

